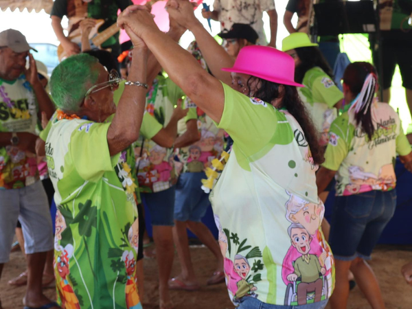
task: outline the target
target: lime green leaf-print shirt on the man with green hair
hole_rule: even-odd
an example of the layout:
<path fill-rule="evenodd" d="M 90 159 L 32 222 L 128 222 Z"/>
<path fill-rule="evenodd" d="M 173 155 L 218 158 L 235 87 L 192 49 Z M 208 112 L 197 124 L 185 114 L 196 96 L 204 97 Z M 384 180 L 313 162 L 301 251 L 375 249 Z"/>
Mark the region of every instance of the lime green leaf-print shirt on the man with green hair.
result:
<path fill-rule="evenodd" d="M 125 154 L 109 153 L 109 126 L 62 119 L 52 123 L 47 136 L 47 166 L 58 208 L 56 286 L 63 305 L 126 309 L 126 299 L 139 304 L 135 185 Z"/>

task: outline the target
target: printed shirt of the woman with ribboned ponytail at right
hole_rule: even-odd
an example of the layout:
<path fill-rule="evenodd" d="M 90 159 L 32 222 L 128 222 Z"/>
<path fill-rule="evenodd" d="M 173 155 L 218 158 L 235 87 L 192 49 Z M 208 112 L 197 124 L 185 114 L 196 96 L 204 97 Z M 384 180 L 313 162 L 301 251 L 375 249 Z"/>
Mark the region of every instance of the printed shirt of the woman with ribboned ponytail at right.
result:
<path fill-rule="evenodd" d="M 392 190 L 396 187 L 393 167 L 396 153 L 408 155 L 411 152 L 398 114 L 387 103 L 372 104 L 376 130 L 371 140 L 361 126 L 356 126 L 354 111 L 343 113 L 330 127 L 323 166 L 337 171 L 337 196 Z"/>

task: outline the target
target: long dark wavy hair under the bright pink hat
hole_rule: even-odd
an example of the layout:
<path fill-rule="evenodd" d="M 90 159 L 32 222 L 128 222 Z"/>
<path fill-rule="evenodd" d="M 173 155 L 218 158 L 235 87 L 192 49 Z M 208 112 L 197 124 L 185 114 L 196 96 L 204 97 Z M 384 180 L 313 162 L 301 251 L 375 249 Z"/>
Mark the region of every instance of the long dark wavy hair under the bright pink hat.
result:
<path fill-rule="evenodd" d="M 280 84 L 251 76 L 247 81 L 249 93 L 251 93 L 251 84 L 255 79 L 258 81 L 258 89 L 253 92 L 253 96 L 264 102 L 270 103 L 283 95 L 282 106 L 279 107 L 286 108 L 286 110 L 295 117 L 302 130 L 304 130 L 304 135 L 306 141 L 308 141 L 310 152 L 312 152 L 314 163 L 323 163 L 323 161 L 325 161 L 325 157 L 323 156 L 325 150 L 319 145 L 319 134 L 312 123 L 312 119 L 310 118 L 304 103 L 299 97 L 299 93 L 297 93 L 296 87 L 284 84 L 284 92 L 281 93 L 279 91 Z"/>

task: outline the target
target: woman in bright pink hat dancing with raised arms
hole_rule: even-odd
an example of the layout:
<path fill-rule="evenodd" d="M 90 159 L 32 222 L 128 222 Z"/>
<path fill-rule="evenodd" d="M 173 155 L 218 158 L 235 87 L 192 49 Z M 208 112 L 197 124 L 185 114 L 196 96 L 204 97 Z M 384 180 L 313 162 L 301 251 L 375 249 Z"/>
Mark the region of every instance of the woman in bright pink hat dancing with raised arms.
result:
<path fill-rule="evenodd" d="M 217 45 L 203 35 L 188 1 L 170 0 L 168 11 L 194 32 L 201 49 L 206 41 Z M 142 38 L 170 78 L 233 137 L 231 157 L 211 193 L 227 236 L 222 253 L 225 268 L 233 270 L 229 274 L 225 269 L 234 280 L 227 278 L 232 301 L 242 309 L 324 308 L 334 286 L 334 267 L 320 229 L 323 207 L 305 213 L 310 203 L 321 203 L 314 172 L 323 153 L 297 93 L 301 85 L 294 81 L 293 58 L 271 47 L 244 47 L 233 67 L 225 69 L 244 95 L 203 70 L 159 31 L 148 12 L 131 6 L 118 24 Z M 290 194 L 308 204 L 292 225 L 285 211 Z M 308 231 L 312 220 L 318 228 Z"/>

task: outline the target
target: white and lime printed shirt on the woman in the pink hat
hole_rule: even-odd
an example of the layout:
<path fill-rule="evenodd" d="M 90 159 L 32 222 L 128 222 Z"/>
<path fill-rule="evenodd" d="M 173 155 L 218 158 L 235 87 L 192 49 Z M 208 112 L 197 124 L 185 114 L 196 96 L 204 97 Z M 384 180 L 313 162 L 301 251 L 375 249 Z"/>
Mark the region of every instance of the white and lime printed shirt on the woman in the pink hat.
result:
<path fill-rule="evenodd" d="M 324 207 L 306 137 L 287 111 L 223 87 L 225 108 L 218 128 L 234 143 L 210 199 L 229 297 L 235 304 L 241 297 L 256 297 L 280 306 L 287 298 L 288 306 L 297 305 L 287 277 L 301 257 L 288 235 L 288 228 L 298 225 L 308 234 L 305 253 L 315 255 L 324 268 L 321 299 L 327 299 L 334 287 L 334 263 L 320 229 Z"/>

